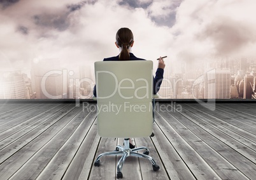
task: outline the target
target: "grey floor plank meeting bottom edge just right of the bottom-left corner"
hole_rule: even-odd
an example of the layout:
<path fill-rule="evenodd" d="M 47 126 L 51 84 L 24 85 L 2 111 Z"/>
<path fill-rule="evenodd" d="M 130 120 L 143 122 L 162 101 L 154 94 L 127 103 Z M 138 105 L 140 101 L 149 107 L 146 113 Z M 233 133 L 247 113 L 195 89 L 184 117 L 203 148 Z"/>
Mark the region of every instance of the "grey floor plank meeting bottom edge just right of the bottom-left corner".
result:
<path fill-rule="evenodd" d="M 22 167 L 11 176 L 10 179 L 36 179 L 40 172 L 46 167 L 54 155 L 59 151 L 66 141 L 71 137 L 73 132 L 82 123 L 88 112 L 82 111 L 82 107 L 76 108 L 78 113 L 75 113 L 66 126 L 61 129 L 50 141 L 37 151 L 30 159 L 29 163 L 25 163 Z"/>

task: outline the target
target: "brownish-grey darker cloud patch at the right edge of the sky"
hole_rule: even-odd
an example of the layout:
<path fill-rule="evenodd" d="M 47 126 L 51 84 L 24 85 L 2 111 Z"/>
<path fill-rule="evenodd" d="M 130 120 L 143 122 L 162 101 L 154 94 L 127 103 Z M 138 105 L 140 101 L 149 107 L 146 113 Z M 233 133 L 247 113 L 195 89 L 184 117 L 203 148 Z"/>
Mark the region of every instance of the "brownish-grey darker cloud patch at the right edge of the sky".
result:
<path fill-rule="evenodd" d="M 232 55 L 250 42 L 255 43 L 253 31 L 250 24 L 220 17 L 206 25 L 198 37 L 199 41 L 210 39 L 217 55 Z"/>

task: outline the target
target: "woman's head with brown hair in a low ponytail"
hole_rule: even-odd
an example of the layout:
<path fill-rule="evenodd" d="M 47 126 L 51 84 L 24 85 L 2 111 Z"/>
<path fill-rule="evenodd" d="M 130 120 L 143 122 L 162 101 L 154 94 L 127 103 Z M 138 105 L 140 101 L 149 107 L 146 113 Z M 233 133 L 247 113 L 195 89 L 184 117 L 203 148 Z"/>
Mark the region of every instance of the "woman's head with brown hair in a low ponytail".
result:
<path fill-rule="evenodd" d="M 119 60 L 130 60 L 128 49 L 132 47 L 134 42 L 132 31 L 126 27 L 122 27 L 117 31 L 116 44 L 122 51 L 119 55 Z"/>

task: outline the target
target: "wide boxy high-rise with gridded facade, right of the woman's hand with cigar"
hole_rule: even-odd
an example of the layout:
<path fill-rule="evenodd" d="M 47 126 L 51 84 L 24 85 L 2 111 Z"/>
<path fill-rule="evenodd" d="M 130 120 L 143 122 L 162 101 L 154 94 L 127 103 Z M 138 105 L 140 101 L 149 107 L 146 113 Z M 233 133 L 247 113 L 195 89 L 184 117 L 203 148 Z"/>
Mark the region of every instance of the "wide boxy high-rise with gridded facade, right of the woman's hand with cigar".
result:
<path fill-rule="evenodd" d="M 230 97 L 230 69 L 213 69 L 204 73 L 204 98 L 229 99 Z"/>

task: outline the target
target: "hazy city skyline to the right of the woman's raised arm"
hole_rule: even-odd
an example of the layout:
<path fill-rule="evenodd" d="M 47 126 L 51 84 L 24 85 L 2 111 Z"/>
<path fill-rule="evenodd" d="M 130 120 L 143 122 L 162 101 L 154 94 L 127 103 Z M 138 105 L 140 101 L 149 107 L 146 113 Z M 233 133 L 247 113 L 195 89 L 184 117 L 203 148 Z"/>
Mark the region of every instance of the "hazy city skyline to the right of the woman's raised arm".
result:
<path fill-rule="evenodd" d="M 180 74 L 170 75 L 169 70 L 168 67 L 165 70 L 163 88 L 159 91 L 161 98 L 256 98 L 255 58 L 221 58 L 201 63 L 186 61 L 182 63 Z"/>

